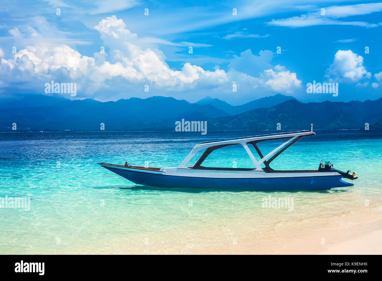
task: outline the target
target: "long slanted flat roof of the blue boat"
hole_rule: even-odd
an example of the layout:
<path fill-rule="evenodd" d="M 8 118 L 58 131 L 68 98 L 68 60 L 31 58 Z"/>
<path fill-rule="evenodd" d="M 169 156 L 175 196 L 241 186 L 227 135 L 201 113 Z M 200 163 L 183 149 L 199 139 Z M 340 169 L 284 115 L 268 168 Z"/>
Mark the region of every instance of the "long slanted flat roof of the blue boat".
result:
<path fill-rule="evenodd" d="M 225 140 L 214 140 L 214 141 L 204 141 L 198 143 L 196 146 L 215 146 L 222 145 L 227 143 L 241 143 L 241 142 L 249 142 L 254 140 L 277 140 L 281 138 L 288 138 L 294 136 L 311 136 L 316 135 L 311 130 L 303 130 L 303 131 L 295 131 L 295 132 L 283 132 L 283 133 L 274 133 L 274 134 L 266 134 L 266 135 L 255 135 L 255 136 L 244 136 L 242 138 L 228 138 Z"/>

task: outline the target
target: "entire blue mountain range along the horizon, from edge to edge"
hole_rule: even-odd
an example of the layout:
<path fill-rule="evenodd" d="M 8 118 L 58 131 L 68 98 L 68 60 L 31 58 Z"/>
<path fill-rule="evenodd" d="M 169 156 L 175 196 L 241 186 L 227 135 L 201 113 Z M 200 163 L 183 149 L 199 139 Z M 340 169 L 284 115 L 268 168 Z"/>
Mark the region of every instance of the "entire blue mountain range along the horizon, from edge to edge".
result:
<path fill-rule="evenodd" d="M 207 121 L 207 130 L 282 130 L 358 129 L 365 123 L 370 129 L 382 129 L 380 108 L 376 101 L 302 103 L 277 94 L 240 106 L 206 97 L 190 103 L 173 97 L 132 97 L 100 102 L 94 99 L 70 100 L 63 97 L 26 95 L 19 100 L 0 101 L 0 131 L 95 131 L 174 130 L 175 122 Z"/>

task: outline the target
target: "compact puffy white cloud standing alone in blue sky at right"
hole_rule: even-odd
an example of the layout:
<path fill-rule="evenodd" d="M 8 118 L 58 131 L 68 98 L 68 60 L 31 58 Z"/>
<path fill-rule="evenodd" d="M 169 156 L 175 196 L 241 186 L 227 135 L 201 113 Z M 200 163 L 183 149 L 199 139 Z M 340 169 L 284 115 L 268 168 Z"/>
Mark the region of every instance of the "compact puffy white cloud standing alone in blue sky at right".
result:
<path fill-rule="evenodd" d="M 332 65 L 327 69 L 327 76 L 332 81 L 349 83 L 368 79 L 371 73 L 363 65 L 363 57 L 351 50 L 338 50 Z"/>

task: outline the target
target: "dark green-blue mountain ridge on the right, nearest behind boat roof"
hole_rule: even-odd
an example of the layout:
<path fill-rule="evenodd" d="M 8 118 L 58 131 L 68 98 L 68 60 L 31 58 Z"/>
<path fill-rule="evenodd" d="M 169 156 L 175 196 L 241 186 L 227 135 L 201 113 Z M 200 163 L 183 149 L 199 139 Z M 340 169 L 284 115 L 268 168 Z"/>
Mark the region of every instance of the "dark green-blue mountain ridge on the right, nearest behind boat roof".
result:
<path fill-rule="evenodd" d="M 210 130 L 275 130 L 277 123 L 282 130 L 315 129 L 364 129 L 365 123 L 379 128 L 382 98 L 376 101 L 309 102 L 285 101 L 270 108 L 249 110 L 242 114 L 209 120 Z M 370 129 L 373 126 L 370 125 Z"/>

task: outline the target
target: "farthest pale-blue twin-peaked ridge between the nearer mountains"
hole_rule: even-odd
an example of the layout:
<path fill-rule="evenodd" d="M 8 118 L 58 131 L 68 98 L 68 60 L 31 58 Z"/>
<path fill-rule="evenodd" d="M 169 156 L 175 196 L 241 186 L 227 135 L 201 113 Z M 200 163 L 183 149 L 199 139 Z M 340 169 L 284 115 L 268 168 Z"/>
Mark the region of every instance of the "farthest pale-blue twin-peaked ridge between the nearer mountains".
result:
<path fill-rule="evenodd" d="M 212 97 L 207 96 L 204 99 L 201 99 L 200 101 L 196 102 L 196 104 L 211 104 L 217 109 L 221 109 L 230 115 L 236 115 L 236 114 L 246 112 L 248 110 L 253 110 L 253 109 L 263 108 L 263 107 L 264 108 L 272 107 L 272 106 L 275 106 L 276 104 L 280 104 L 290 99 L 295 99 L 295 98 L 291 96 L 284 96 L 282 94 L 276 94 L 274 96 L 262 97 L 254 101 L 247 102 L 246 104 L 242 104 L 240 106 L 232 106 L 231 104 L 228 104 L 225 101 L 221 101 L 220 99 L 216 99 L 216 98 L 213 99 Z"/>

